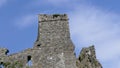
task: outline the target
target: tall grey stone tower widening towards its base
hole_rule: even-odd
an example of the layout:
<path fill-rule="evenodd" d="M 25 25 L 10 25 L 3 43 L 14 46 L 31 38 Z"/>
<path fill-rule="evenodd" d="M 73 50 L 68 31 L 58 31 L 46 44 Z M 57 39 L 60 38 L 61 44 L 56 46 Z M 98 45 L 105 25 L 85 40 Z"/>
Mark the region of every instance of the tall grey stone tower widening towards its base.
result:
<path fill-rule="evenodd" d="M 67 15 L 39 15 L 38 24 L 38 37 L 34 49 L 39 49 L 36 50 L 39 55 L 34 54 L 34 67 L 76 68 Z"/>

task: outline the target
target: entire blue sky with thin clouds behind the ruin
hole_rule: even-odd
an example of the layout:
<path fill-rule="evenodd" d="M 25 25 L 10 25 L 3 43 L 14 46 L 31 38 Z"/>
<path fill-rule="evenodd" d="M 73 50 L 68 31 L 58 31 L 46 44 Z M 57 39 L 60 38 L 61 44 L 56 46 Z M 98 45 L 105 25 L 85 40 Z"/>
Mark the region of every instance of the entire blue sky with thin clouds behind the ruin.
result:
<path fill-rule="evenodd" d="M 38 14 L 66 13 L 77 55 L 95 45 L 103 68 L 120 68 L 119 0 L 0 0 L 0 47 L 10 53 L 32 48 Z"/>

